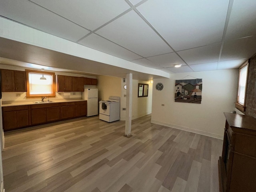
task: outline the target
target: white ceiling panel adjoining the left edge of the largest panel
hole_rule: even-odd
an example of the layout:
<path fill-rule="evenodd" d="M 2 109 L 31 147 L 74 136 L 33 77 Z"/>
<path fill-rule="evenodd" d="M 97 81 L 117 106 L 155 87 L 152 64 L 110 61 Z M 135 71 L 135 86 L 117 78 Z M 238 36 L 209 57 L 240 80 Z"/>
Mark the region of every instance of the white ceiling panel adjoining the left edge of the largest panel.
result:
<path fill-rule="evenodd" d="M 133 10 L 104 26 L 96 33 L 143 57 L 172 51 Z"/>

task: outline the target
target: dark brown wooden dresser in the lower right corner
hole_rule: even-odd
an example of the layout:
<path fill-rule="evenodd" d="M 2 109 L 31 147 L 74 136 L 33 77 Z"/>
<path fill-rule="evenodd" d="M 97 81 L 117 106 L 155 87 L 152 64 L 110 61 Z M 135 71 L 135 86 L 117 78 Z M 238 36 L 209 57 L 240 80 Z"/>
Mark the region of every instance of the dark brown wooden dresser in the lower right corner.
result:
<path fill-rule="evenodd" d="M 218 161 L 220 192 L 256 192 L 256 119 L 224 115 L 226 126 Z"/>

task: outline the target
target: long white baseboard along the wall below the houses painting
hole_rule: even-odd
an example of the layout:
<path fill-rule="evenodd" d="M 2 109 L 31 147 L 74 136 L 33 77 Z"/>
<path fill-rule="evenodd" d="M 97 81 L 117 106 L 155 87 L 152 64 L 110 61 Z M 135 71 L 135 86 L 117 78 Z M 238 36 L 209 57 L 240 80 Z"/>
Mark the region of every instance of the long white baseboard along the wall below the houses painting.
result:
<path fill-rule="evenodd" d="M 160 122 L 160 121 L 156 121 L 156 120 L 152 120 L 152 119 L 151 119 L 151 123 L 158 124 L 158 125 L 164 125 L 167 127 L 176 128 L 176 129 L 180 129 L 180 130 L 184 130 L 184 131 L 189 131 L 192 133 L 197 133 L 197 134 L 201 134 L 201 135 L 205 135 L 205 136 L 209 136 L 209 137 L 213 137 L 213 138 L 217 138 L 217 139 L 221 139 L 221 140 L 223 140 L 223 137 L 224 137 L 224 135 L 218 135 L 215 133 L 209 133 L 209 132 L 205 132 L 205 131 L 201 131 L 201 130 L 196 130 L 196 129 L 183 127 L 183 126 L 179 126 L 179 125 Z"/>

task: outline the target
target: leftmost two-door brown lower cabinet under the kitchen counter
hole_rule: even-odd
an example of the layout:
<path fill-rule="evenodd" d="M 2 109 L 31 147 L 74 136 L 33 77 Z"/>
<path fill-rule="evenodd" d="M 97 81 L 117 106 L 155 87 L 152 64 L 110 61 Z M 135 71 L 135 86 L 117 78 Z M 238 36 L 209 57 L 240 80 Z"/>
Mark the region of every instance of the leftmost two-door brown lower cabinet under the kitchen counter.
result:
<path fill-rule="evenodd" d="M 28 106 L 11 106 L 2 108 L 3 129 L 11 130 L 29 125 Z"/>

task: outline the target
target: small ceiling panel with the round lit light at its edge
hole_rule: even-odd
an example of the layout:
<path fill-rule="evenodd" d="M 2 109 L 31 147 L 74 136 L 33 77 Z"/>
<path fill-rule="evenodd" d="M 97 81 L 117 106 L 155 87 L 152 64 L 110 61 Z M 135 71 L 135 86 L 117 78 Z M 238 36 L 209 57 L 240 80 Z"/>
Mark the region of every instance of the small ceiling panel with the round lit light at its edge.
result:
<path fill-rule="evenodd" d="M 174 66 L 174 64 L 186 65 L 176 53 L 162 54 L 158 56 L 148 57 L 147 59 L 163 67 L 171 67 Z"/>

